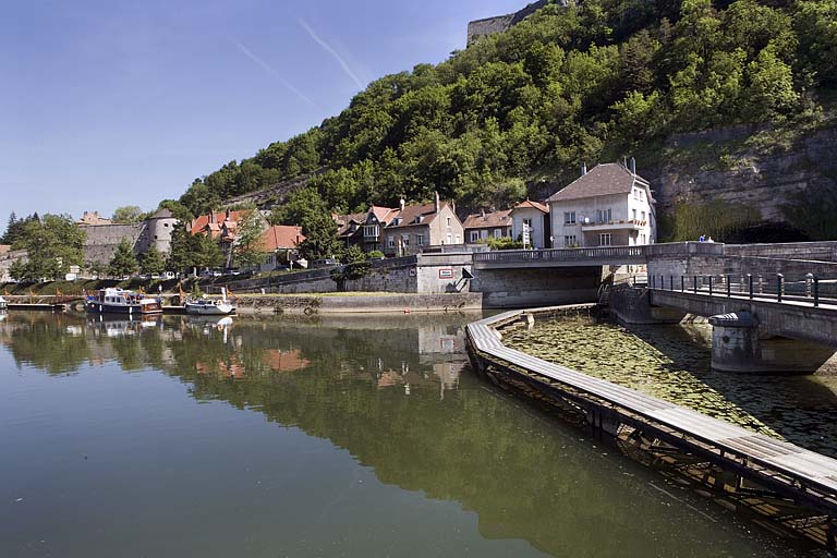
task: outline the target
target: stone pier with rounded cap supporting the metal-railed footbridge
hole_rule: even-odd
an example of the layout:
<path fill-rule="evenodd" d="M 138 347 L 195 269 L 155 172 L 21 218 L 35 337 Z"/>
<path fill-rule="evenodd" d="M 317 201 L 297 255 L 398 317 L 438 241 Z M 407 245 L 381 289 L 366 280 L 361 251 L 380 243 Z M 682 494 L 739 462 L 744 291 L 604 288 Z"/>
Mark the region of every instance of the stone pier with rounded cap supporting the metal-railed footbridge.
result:
<path fill-rule="evenodd" d="M 783 337 L 764 338 L 749 312 L 712 316 L 712 367 L 743 374 L 813 374 L 834 349 Z"/>

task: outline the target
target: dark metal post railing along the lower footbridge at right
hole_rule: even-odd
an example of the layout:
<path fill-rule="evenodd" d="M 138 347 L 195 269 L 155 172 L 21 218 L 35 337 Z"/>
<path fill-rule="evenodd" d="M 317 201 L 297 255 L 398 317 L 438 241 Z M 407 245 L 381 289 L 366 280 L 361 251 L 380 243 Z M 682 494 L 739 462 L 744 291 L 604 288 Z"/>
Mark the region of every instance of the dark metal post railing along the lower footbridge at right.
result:
<path fill-rule="evenodd" d="M 803 302 L 812 306 L 837 305 L 837 276 L 822 277 L 815 274 L 652 275 L 648 277 L 647 284 L 648 288 L 659 291 Z"/>

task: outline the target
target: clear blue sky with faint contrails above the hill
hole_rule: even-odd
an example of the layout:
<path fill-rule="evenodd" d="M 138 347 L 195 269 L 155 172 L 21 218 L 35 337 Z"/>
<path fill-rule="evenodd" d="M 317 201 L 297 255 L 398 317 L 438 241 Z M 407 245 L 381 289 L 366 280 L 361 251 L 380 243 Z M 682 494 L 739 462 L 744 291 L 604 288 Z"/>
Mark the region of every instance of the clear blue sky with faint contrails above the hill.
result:
<path fill-rule="evenodd" d="M 153 209 L 196 177 L 462 48 L 526 0 L 26 0 L 0 19 L 0 228 L 11 211 Z"/>

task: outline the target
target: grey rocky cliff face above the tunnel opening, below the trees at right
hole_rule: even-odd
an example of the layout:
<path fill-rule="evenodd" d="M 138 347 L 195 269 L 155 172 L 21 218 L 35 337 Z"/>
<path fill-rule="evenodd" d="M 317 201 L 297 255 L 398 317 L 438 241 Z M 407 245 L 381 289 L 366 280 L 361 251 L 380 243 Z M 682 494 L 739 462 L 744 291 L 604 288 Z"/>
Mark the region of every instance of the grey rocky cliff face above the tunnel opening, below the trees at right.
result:
<path fill-rule="evenodd" d="M 824 195 L 837 198 L 837 128 L 771 153 L 747 146 L 755 133 L 737 126 L 669 138 L 657 168 L 646 174 L 658 211 L 670 215 L 678 204 L 721 201 L 755 208 L 764 221 L 789 222 L 789 206 Z"/>

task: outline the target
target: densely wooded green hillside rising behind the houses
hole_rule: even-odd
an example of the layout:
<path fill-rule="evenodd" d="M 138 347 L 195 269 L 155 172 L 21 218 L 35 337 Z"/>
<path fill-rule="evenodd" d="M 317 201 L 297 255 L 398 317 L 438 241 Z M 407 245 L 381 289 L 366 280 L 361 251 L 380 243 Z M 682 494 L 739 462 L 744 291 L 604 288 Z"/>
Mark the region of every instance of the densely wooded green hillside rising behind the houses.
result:
<path fill-rule="evenodd" d="M 658 156 L 666 137 L 827 119 L 835 0 L 587 0 L 549 5 L 436 66 L 383 77 L 340 116 L 195 181 L 193 213 L 317 169 L 338 210 L 434 191 L 502 206 L 582 161 Z M 307 192 L 306 195 L 311 195 Z"/>

